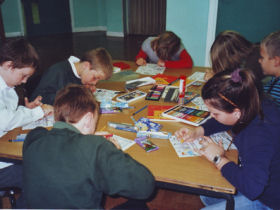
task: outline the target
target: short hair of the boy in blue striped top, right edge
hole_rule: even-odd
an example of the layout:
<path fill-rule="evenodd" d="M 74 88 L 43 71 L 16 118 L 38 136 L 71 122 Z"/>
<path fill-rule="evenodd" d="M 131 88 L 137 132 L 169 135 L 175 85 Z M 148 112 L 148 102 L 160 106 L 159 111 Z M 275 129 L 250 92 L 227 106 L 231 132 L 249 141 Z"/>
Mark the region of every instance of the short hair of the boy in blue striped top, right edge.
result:
<path fill-rule="evenodd" d="M 261 42 L 270 58 L 280 56 L 280 31 L 272 32 Z"/>

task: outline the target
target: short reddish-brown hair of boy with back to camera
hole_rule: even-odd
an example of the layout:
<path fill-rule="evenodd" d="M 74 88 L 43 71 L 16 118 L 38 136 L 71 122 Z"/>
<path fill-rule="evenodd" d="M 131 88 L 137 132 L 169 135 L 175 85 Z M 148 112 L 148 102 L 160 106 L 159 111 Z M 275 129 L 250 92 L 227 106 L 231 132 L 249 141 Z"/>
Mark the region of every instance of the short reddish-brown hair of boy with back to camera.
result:
<path fill-rule="evenodd" d="M 94 95 L 82 85 L 67 85 L 55 97 L 55 121 L 77 123 L 87 112 L 96 111 L 98 112 L 98 104 Z"/>

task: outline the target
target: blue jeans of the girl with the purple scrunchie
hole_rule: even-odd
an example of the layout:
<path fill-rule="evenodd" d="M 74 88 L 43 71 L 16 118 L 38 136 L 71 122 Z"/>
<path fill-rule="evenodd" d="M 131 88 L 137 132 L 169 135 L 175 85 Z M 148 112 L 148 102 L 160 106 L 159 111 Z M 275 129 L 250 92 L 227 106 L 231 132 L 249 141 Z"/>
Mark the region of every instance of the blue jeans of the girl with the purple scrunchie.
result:
<path fill-rule="evenodd" d="M 251 201 L 246 198 L 241 193 L 237 193 L 237 195 L 233 196 L 234 198 L 234 209 L 242 209 L 242 210 L 271 210 L 271 208 L 265 206 L 262 202 L 255 200 Z M 222 198 L 212 198 L 207 196 L 200 196 L 200 200 L 205 205 L 204 210 L 219 210 L 226 209 L 226 200 Z"/>

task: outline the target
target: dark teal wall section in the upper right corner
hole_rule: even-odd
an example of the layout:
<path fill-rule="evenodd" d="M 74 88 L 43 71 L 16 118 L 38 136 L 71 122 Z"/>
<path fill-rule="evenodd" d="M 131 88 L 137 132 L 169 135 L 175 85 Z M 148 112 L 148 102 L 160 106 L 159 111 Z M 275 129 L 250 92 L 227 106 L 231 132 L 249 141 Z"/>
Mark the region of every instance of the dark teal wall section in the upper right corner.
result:
<path fill-rule="evenodd" d="M 235 30 L 252 42 L 280 30 L 279 0 L 219 0 L 217 28 Z"/>

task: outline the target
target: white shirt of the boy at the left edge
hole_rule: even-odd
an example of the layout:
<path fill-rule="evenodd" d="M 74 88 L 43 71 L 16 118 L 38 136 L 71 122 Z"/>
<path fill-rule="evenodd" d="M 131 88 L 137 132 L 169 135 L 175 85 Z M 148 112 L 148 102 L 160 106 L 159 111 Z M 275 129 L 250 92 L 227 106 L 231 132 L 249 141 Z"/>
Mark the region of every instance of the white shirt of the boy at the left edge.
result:
<path fill-rule="evenodd" d="M 0 76 L 0 137 L 14 128 L 22 127 L 43 116 L 44 111 L 40 106 L 33 109 L 18 106 L 16 91 L 7 86 Z"/>

